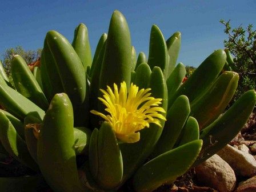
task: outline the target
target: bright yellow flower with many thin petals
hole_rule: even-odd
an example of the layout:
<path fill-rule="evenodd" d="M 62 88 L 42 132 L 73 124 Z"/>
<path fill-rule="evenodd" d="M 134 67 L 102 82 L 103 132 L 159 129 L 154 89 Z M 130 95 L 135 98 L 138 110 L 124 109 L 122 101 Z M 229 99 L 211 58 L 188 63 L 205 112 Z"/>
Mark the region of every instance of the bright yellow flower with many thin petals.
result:
<path fill-rule="evenodd" d="M 107 115 L 95 110 L 91 113 L 99 115 L 109 122 L 115 131 L 115 136 L 122 142 L 134 143 L 139 141 L 139 130 L 155 123 L 162 127 L 160 119 L 166 120 L 160 113 L 165 113 L 161 105 L 162 99 L 150 97 L 151 89 L 141 89 L 131 83 L 127 94 L 126 83 L 122 82 L 120 90 L 114 83 L 114 91 L 107 86 L 107 90 L 100 89 L 103 98 L 98 98 L 106 106 Z"/>

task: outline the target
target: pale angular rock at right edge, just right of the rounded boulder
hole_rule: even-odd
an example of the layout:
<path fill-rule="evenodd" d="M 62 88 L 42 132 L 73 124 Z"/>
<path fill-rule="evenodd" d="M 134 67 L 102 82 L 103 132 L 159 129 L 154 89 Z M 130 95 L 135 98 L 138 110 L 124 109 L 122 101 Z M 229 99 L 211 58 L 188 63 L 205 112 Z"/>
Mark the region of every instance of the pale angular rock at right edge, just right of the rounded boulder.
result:
<path fill-rule="evenodd" d="M 237 175 L 252 177 L 256 174 L 256 161 L 253 155 L 235 149 L 230 145 L 226 145 L 217 154 L 229 163 Z"/>

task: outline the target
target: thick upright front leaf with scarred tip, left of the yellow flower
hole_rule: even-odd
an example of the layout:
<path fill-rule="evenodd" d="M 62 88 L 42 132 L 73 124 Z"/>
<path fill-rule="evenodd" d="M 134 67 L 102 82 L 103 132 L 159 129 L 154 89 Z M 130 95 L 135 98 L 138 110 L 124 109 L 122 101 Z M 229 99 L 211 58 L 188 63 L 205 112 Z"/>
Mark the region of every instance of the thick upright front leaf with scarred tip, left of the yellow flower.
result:
<path fill-rule="evenodd" d="M 73 127 L 69 97 L 65 93 L 56 94 L 46 111 L 37 142 L 38 165 L 54 191 L 83 191 L 75 159 Z"/>

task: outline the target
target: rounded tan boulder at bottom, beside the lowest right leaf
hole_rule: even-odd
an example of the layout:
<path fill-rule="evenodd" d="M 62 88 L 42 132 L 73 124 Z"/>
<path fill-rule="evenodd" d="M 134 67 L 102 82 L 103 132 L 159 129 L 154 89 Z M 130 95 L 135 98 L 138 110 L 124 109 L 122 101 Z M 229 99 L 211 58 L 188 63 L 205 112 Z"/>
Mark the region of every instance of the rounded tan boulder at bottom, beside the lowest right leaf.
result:
<path fill-rule="evenodd" d="M 217 154 L 195 167 L 195 175 L 204 186 L 212 187 L 220 192 L 234 190 L 235 173 L 229 164 Z"/>

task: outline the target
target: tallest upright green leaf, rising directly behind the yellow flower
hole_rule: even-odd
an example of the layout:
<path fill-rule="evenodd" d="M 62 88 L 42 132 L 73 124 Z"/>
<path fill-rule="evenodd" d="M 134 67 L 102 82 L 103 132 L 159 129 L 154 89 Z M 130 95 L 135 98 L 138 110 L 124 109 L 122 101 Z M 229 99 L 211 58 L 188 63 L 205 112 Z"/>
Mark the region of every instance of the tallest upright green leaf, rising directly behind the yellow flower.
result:
<path fill-rule="evenodd" d="M 99 88 L 120 85 L 123 81 L 127 87 L 131 78 L 131 37 L 125 17 L 115 10 L 109 24 L 106 49 L 99 78 Z M 118 74 L 118 75 L 117 75 Z"/>

